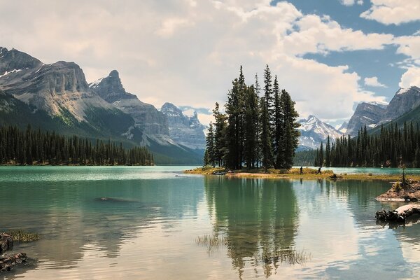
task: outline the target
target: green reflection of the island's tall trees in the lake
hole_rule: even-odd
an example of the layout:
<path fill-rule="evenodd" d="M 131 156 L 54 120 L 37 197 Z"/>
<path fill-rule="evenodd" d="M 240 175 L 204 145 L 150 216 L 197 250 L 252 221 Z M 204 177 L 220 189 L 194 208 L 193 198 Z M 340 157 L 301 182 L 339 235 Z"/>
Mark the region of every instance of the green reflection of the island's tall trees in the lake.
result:
<path fill-rule="evenodd" d="M 204 190 L 214 234 L 224 236 L 239 278 L 246 265 L 254 267 L 255 274 L 261 265 L 266 277 L 275 273 L 279 262 L 269 258 L 262 262 L 262 256 L 295 245 L 299 211 L 292 183 L 207 177 Z"/>

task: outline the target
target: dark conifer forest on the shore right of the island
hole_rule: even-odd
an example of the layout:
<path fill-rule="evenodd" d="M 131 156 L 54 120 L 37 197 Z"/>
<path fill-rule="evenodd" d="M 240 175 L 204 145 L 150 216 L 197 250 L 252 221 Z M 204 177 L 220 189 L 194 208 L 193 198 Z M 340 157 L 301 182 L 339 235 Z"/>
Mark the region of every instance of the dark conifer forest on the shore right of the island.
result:
<path fill-rule="evenodd" d="M 357 137 L 342 136 L 325 151 L 323 144 L 316 150 L 315 166 L 326 167 L 420 167 L 419 124 L 381 126 L 377 134 L 369 134 L 366 126 Z"/>

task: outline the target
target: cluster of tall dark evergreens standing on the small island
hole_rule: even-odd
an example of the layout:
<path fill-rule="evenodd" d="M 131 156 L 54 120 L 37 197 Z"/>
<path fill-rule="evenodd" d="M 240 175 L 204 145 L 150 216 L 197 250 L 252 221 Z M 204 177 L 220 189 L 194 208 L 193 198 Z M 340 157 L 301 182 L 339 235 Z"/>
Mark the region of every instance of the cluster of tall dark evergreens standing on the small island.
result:
<path fill-rule="evenodd" d="M 286 90 L 281 90 L 267 65 L 260 97 L 258 76 L 246 85 L 242 66 L 239 77 L 232 81 L 225 113 L 219 104 L 213 110 L 215 123 L 210 123 L 204 165 L 230 169 L 274 167 L 289 169 L 297 148 L 295 102 Z"/>

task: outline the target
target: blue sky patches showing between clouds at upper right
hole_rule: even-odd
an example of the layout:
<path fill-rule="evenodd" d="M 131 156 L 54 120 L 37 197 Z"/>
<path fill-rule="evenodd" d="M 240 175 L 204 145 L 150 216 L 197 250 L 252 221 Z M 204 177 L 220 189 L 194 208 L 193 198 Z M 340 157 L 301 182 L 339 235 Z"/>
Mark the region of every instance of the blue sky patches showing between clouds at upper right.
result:
<path fill-rule="evenodd" d="M 275 5 L 277 1 L 272 4 Z M 290 1 L 296 8 L 305 14 L 316 14 L 319 16 L 329 15 L 332 20 L 339 22 L 344 28 L 361 30 L 364 33 L 384 33 L 394 36 L 411 36 L 420 30 L 419 21 L 406 22 L 400 25 L 384 25 L 376 20 L 367 20 L 360 17 L 360 14 L 370 8 L 370 1 L 361 1 L 353 5 L 344 5 L 341 1 L 330 0 L 293 0 Z M 386 45 L 384 50 L 356 50 L 350 52 L 330 52 L 327 55 L 307 54 L 305 58 L 315 59 L 331 66 L 349 65 L 349 71 L 356 71 L 362 78 L 376 76 L 380 83 L 386 87 L 372 87 L 365 85 L 360 80 L 360 87 L 375 92 L 377 95 L 385 96 L 389 102 L 395 92 L 399 89 L 400 78 L 405 69 L 398 66 L 399 62 L 407 59 L 407 55 L 396 53 L 397 46 Z"/>

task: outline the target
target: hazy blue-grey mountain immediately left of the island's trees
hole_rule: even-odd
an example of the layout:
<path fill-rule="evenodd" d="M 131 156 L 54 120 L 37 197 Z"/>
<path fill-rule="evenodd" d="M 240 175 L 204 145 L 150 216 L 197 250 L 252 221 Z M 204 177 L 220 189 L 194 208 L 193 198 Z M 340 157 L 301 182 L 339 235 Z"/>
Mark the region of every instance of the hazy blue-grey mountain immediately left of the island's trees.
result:
<path fill-rule="evenodd" d="M 160 111 L 167 116 L 169 124 L 169 136 L 179 144 L 202 151 L 206 148 L 206 127 L 197 118 L 197 112 L 193 116 L 185 116 L 181 109 L 172 103 L 165 103 Z"/>

